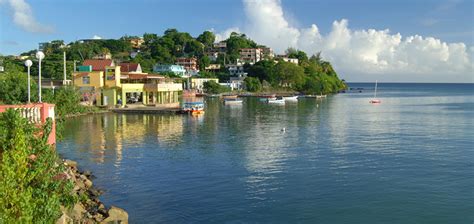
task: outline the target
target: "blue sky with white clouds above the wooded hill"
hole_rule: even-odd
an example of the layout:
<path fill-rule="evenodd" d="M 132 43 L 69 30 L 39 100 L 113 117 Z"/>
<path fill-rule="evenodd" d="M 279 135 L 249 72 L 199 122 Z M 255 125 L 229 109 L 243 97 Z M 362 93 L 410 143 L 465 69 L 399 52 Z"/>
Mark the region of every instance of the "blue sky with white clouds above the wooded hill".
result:
<path fill-rule="evenodd" d="M 348 82 L 474 82 L 474 0 L 0 0 L 0 54 L 50 40 L 243 32 Z"/>

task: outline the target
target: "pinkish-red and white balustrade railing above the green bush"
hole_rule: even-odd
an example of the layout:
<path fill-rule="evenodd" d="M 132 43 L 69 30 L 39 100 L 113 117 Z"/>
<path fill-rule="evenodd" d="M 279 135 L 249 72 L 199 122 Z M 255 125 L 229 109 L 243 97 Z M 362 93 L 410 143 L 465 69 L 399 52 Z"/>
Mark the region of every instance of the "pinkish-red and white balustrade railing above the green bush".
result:
<path fill-rule="evenodd" d="M 25 105 L 0 105 L 0 113 L 5 112 L 7 109 L 14 109 L 20 112 L 20 115 L 30 123 L 33 124 L 44 124 L 47 118 L 53 120 L 53 126 L 51 127 L 51 133 L 48 137 L 48 144 L 56 144 L 56 123 L 54 114 L 54 104 L 48 103 L 35 103 Z"/>

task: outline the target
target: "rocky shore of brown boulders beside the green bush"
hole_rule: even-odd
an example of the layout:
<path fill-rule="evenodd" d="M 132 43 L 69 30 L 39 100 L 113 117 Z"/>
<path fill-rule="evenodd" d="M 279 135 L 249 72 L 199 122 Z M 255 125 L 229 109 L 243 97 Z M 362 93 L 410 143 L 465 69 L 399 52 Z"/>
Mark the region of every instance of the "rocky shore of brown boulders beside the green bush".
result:
<path fill-rule="evenodd" d="M 70 223 L 128 223 L 128 213 L 118 207 L 109 209 L 99 200 L 103 192 L 93 186 L 90 172 L 80 172 L 77 162 L 64 160 L 65 177 L 74 183 L 74 194 L 79 198 L 73 208 L 61 207 L 62 216 L 56 224 Z"/>

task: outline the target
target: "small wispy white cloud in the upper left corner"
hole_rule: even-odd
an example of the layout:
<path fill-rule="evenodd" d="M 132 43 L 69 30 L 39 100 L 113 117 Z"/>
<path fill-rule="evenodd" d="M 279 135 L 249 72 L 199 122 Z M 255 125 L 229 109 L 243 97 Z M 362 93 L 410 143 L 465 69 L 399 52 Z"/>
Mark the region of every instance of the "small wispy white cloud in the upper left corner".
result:
<path fill-rule="evenodd" d="M 53 28 L 36 21 L 31 6 L 24 0 L 2 0 L 7 2 L 13 13 L 13 22 L 23 30 L 31 33 L 52 33 Z"/>

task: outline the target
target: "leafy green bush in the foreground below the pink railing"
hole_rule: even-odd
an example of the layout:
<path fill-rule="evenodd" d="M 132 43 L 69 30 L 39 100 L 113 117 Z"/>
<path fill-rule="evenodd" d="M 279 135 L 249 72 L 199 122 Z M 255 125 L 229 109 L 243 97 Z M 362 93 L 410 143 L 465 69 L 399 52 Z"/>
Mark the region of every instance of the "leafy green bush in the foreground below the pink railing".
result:
<path fill-rule="evenodd" d="M 0 114 L 0 223 L 54 223 L 60 205 L 76 202 L 72 181 L 47 144 L 51 120 L 41 128 L 19 112 Z"/>

